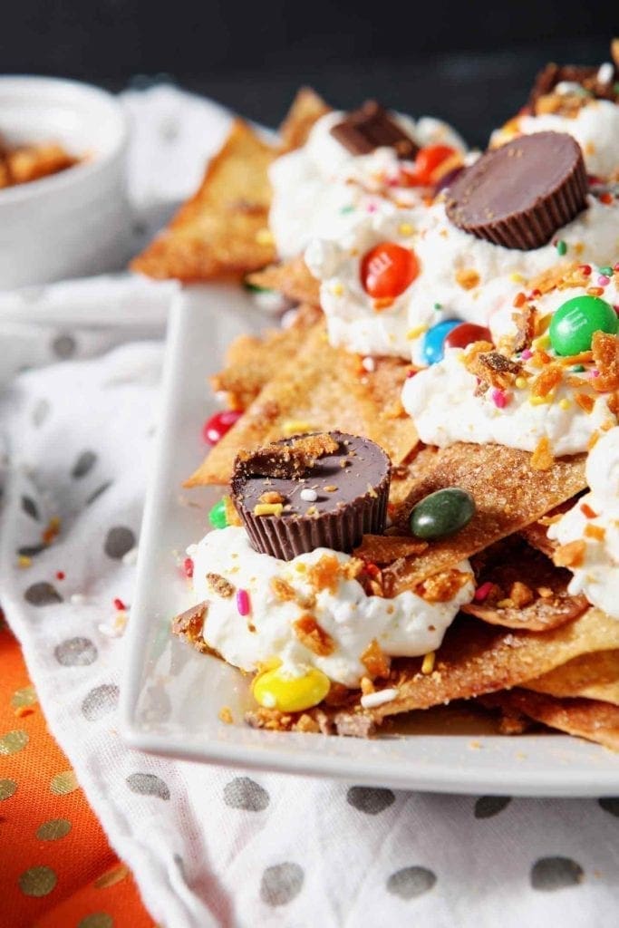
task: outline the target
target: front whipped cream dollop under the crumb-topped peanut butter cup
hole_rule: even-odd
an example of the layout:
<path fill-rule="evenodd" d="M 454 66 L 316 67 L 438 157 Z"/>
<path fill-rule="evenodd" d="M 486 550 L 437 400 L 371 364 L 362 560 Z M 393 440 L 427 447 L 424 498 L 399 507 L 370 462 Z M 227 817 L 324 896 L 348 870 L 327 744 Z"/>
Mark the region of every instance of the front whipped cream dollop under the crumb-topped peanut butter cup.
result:
<path fill-rule="evenodd" d="M 393 657 L 434 651 L 460 605 L 470 602 L 474 592 L 469 561 L 458 565 L 458 571 L 469 574 L 469 578 L 446 602 L 429 602 L 411 591 L 393 599 L 368 596 L 358 581 L 343 577 L 333 591 L 316 591 L 310 582 L 312 566 L 325 556 L 345 565 L 352 561 L 349 555 L 316 548 L 292 561 L 278 561 L 251 548 L 245 530 L 235 526 L 211 532 L 198 545 L 188 548 L 187 554 L 194 563 L 197 601 L 208 601 L 204 640 L 228 664 L 254 672 L 261 664 L 277 658 L 292 676 L 302 676 L 308 668 L 317 667 L 329 679 L 350 688 L 357 687 L 361 677 L 368 675 L 361 657 L 374 639 L 383 653 Z M 225 587 L 227 595 L 214 590 L 213 574 L 225 579 L 229 585 Z M 279 598 L 273 586 L 277 580 L 289 585 L 295 598 L 305 605 Z M 249 594 L 251 604 L 246 617 L 237 608 L 236 591 L 241 588 Z M 329 654 L 316 654 L 295 632 L 294 623 L 308 612 L 332 639 Z"/>

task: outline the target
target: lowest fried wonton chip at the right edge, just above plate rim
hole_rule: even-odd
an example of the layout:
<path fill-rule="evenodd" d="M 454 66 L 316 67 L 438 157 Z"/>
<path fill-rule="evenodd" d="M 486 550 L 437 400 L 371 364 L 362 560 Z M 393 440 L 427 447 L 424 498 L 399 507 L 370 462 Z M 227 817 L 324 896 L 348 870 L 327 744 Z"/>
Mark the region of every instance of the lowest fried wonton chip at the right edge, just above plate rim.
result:
<path fill-rule="evenodd" d="M 484 704 L 510 715 L 521 713 L 568 735 L 596 741 L 619 751 L 619 707 L 588 699 L 555 699 L 542 693 L 512 690 L 496 693 Z"/>

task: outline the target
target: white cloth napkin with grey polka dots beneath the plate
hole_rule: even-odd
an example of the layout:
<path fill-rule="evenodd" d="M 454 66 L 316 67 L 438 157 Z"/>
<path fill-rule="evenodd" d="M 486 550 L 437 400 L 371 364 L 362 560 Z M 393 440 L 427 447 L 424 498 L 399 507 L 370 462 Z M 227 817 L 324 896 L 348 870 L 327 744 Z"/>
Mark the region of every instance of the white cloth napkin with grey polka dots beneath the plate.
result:
<path fill-rule="evenodd" d="M 226 116 L 171 87 L 124 99 L 144 212 L 188 192 Z M 123 745 L 113 600 L 131 604 L 173 292 L 101 277 L 0 295 L 0 599 L 50 728 L 153 918 L 165 928 L 615 925 L 619 799 L 393 793 Z M 41 549 L 55 517 L 58 540 Z M 19 552 L 31 566 L 18 566 Z M 0 923 L 10 923 L 1 897 Z"/>

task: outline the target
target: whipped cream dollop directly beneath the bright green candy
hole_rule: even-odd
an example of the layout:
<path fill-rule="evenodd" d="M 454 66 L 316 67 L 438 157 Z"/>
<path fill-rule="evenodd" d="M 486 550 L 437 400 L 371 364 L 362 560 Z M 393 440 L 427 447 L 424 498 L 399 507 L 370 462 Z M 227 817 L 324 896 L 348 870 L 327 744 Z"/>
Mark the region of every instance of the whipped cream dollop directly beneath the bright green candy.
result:
<path fill-rule="evenodd" d="M 476 395 L 477 380 L 465 367 L 465 354 L 460 348 L 448 348 L 442 361 L 405 382 L 402 405 L 426 445 L 495 443 L 535 451 L 546 438 L 551 453 L 561 457 L 587 451 L 593 434 L 616 422 L 608 394 L 595 393 L 587 372 L 578 378 L 582 386 L 577 389 L 561 381 L 548 402 L 532 402 L 531 380 L 540 369 L 530 363 L 523 369 L 531 380 L 522 386 L 514 384 L 508 391 L 491 387 Z M 590 399 L 590 411 L 579 406 L 574 393 Z"/>

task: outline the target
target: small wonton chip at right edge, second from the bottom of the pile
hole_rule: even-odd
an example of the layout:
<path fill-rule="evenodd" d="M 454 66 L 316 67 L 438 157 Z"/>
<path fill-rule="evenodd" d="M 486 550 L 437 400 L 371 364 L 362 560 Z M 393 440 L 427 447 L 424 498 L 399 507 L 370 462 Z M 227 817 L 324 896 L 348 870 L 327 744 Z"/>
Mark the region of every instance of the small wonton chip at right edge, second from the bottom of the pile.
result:
<path fill-rule="evenodd" d="M 619 651 L 597 651 L 574 658 L 526 684 L 548 696 L 584 697 L 619 705 Z"/>

